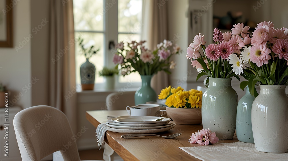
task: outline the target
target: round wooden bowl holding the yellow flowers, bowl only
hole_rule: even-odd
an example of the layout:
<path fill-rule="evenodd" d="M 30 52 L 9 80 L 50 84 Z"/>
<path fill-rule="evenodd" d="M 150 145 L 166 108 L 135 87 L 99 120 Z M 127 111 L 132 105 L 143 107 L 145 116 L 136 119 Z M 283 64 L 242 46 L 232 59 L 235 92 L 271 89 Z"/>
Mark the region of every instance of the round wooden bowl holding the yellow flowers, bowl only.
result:
<path fill-rule="evenodd" d="M 166 107 L 169 118 L 182 125 L 196 125 L 202 123 L 201 108 L 173 108 Z"/>

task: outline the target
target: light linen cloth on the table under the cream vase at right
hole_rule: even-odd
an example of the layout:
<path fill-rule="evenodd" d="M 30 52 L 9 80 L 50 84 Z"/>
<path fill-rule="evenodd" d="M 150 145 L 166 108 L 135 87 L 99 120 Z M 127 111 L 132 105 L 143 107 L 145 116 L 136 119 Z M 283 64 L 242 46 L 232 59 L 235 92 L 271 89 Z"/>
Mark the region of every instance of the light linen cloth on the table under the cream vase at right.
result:
<path fill-rule="evenodd" d="M 240 141 L 236 143 L 215 143 L 209 146 L 179 147 L 179 149 L 203 161 L 283 161 L 288 158 L 288 153 L 259 152 L 256 150 L 255 144 Z"/>

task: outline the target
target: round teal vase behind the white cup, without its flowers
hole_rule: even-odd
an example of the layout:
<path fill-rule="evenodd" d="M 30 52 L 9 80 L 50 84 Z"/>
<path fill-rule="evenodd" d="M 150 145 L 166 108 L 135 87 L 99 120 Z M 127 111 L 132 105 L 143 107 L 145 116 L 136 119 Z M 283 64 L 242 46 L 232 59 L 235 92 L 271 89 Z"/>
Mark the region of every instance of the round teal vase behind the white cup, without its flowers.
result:
<path fill-rule="evenodd" d="M 143 104 L 157 99 L 156 92 L 151 88 L 152 75 L 141 75 L 142 86 L 135 93 L 135 105 Z"/>

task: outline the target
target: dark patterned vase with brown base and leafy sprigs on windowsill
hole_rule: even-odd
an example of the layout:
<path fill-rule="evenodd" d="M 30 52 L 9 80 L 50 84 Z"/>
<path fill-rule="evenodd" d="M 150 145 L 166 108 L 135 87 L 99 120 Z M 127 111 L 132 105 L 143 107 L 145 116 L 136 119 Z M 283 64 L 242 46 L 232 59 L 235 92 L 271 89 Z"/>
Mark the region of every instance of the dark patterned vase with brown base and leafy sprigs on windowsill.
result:
<path fill-rule="evenodd" d="M 95 49 L 94 45 L 90 46 L 90 42 L 84 44 L 84 39 L 79 37 L 78 42 L 82 50 L 82 55 L 85 56 L 86 62 L 80 67 L 81 87 L 82 90 L 93 90 L 95 84 L 96 67 L 89 62 L 89 58 L 95 55 L 99 49 Z M 91 43 L 92 44 L 92 43 Z"/>

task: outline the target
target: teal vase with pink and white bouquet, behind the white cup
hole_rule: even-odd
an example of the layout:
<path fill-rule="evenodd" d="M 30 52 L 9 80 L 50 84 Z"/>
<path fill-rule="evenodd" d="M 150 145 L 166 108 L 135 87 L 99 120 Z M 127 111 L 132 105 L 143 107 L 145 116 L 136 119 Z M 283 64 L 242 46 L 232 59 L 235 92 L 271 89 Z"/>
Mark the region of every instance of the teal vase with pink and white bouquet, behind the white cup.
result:
<path fill-rule="evenodd" d="M 156 101 L 156 92 L 151 88 L 151 78 L 158 71 L 165 71 L 170 74 L 176 63 L 170 61 L 172 55 L 179 54 L 180 47 L 175 44 L 174 51 L 170 51 L 172 42 L 164 40 L 157 45 L 155 51 L 144 46 L 145 41 L 132 41 L 131 43 L 120 42 L 116 44 L 116 54 L 113 62 L 119 64 L 121 74 L 128 75 L 138 72 L 141 75 L 142 87 L 135 93 L 135 104 L 142 104 L 149 101 Z"/>

